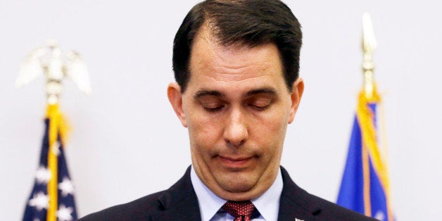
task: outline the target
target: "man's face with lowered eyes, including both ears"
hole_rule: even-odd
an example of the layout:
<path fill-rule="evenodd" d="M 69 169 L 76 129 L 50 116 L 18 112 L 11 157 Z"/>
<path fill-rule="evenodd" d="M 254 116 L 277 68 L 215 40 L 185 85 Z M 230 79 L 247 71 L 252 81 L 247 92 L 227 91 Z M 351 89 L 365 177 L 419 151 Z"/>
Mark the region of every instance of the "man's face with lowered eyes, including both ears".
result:
<path fill-rule="evenodd" d="M 279 170 L 287 125 L 303 91 L 288 91 L 274 44 L 221 46 L 201 30 L 194 40 L 184 94 L 169 99 L 188 127 L 192 165 L 221 198 L 242 201 L 263 194 Z"/>

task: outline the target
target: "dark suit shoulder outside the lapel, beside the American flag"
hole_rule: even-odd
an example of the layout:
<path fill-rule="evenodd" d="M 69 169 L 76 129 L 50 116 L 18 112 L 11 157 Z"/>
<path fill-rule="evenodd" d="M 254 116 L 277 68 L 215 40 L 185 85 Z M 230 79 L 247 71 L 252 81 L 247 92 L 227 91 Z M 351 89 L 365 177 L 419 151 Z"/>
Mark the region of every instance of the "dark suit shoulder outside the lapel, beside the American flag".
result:
<path fill-rule="evenodd" d="M 152 214 L 163 210 L 163 206 L 158 201 L 158 197 L 163 193 L 164 191 L 160 191 L 130 203 L 106 208 L 82 217 L 80 220 L 150 220 Z"/>

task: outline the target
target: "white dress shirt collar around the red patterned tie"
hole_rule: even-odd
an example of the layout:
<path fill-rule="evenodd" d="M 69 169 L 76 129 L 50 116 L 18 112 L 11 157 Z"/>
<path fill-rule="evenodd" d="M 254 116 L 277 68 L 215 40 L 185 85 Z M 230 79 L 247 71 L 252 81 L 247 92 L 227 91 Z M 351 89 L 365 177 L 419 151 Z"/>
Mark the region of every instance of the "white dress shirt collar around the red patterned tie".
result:
<path fill-rule="evenodd" d="M 202 221 L 234 220 L 232 215 L 229 215 L 229 213 L 221 209 L 227 200 L 213 194 L 213 192 L 201 182 L 193 166 L 191 168 L 190 178 L 196 193 L 196 198 L 198 198 Z M 279 169 L 277 178 L 274 180 L 272 186 L 260 197 L 251 199 L 253 205 L 260 213 L 260 216 L 255 217 L 253 220 L 272 221 L 278 219 L 279 198 L 282 193 L 282 185 L 281 169 Z"/>

